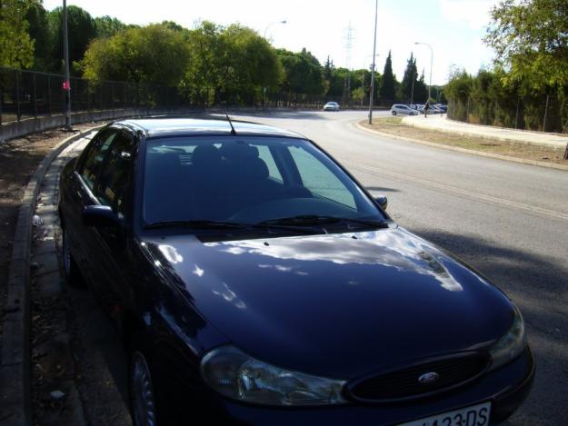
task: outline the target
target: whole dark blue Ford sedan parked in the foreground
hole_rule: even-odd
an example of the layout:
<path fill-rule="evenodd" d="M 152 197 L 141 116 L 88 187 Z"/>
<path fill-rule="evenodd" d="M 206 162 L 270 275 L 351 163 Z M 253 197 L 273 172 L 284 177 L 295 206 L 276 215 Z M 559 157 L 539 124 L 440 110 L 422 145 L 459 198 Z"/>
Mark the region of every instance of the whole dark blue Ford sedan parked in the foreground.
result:
<path fill-rule="evenodd" d="M 59 186 L 69 282 L 128 352 L 136 426 L 500 423 L 529 393 L 523 317 L 304 136 L 105 126 Z"/>

